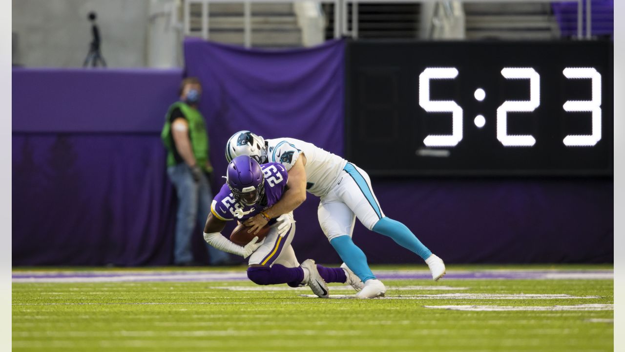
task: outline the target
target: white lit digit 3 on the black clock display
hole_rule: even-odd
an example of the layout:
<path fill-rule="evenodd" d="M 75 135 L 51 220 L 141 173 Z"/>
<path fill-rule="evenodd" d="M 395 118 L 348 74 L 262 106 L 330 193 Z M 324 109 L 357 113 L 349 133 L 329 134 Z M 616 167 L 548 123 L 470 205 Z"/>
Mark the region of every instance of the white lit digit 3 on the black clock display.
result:
<path fill-rule="evenodd" d="M 562 106 L 564 111 L 592 111 L 592 134 L 567 135 L 564 137 L 564 145 L 592 147 L 601 140 L 601 73 L 591 67 L 567 67 L 562 73 L 571 80 L 592 80 L 592 100 L 568 100 Z"/>

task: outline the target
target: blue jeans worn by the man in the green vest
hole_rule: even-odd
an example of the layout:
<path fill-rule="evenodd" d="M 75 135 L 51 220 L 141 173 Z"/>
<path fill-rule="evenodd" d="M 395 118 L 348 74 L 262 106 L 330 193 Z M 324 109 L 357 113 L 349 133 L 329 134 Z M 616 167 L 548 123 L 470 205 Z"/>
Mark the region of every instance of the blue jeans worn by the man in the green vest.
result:
<path fill-rule="evenodd" d="M 186 163 L 167 168 L 169 179 L 178 194 L 178 213 L 176 216 L 176 239 L 174 241 L 174 264 L 191 262 L 191 236 L 196 225 L 203 231 L 206 217 L 211 212 L 211 185 L 202 173 L 199 182 L 193 180 L 191 168 Z M 199 234 L 198 234 L 199 236 Z M 219 264 L 229 259 L 226 252 L 208 247 L 210 263 Z"/>

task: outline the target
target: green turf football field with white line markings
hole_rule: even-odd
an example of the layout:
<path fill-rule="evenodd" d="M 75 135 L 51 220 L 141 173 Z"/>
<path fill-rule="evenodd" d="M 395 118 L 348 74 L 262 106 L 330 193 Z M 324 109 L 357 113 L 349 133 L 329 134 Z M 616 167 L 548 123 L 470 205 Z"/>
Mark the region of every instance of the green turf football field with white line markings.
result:
<path fill-rule="evenodd" d="M 384 298 L 245 267 L 20 268 L 13 351 L 612 351 L 612 266 L 375 266 Z"/>

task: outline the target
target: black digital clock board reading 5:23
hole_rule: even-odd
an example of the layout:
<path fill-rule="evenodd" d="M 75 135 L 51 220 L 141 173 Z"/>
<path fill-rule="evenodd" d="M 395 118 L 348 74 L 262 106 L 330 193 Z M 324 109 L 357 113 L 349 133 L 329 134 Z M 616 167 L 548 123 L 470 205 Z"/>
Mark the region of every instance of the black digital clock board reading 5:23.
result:
<path fill-rule="evenodd" d="M 613 44 L 352 41 L 346 157 L 371 175 L 613 174 Z"/>

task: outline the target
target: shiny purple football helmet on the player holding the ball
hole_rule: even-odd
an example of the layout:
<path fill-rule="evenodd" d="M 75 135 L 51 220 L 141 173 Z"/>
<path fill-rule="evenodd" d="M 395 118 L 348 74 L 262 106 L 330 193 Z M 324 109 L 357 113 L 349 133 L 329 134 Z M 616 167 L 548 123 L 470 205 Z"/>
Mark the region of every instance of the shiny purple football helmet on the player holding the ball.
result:
<path fill-rule="evenodd" d="M 234 199 L 244 205 L 256 204 L 265 194 L 261 165 L 247 155 L 239 155 L 228 164 L 226 184 Z"/>

